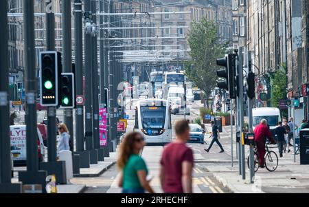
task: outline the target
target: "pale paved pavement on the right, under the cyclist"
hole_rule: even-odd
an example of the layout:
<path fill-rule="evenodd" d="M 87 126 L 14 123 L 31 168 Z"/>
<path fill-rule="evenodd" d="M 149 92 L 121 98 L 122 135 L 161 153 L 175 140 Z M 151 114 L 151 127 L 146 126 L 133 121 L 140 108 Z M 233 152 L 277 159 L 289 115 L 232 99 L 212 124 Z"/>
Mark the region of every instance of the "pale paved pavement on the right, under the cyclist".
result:
<path fill-rule="evenodd" d="M 234 128 L 235 129 L 235 128 Z M 210 125 L 206 126 L 207 131 L 211 131 Z M 279 164 L 274 172 L 269 172 L 266 168 L 259 168 L 255 173 L 254 184 L 249 182 L 249 168 L 247 167 L 247 155 L 249 147 L 246 146 L 246 179 L 239 175 L 238 159 L 236 157 L 236 135 L 233 139 L 233 160 L 231 166 L 231 127 L 223 127 L 220 133 L 220 142 L 225 149 L 225 153 L 207 153 L 207 163 L 202 164 L 203 169 L 212 173 L 223 186 L 229 188 L 233 193 L 309 193 L 309 166 L 300 165 L 299 155 L 296 155 L 294 162 L 293 152 L 284 153 L 284 157 L 279 158 Z M 209 138 L 205 139 L 210 142 Z M 214 144 L 214 151 L 219 148 Z M 279 152 L 274 146 L 271 150 L 277 155 Z M 293 151 L 293 150 L 292 150 Z M 218 157 L 213 162 L 209 162 L 212 157 Z M 225 160 L 225 162 L 222 162 Z"/>

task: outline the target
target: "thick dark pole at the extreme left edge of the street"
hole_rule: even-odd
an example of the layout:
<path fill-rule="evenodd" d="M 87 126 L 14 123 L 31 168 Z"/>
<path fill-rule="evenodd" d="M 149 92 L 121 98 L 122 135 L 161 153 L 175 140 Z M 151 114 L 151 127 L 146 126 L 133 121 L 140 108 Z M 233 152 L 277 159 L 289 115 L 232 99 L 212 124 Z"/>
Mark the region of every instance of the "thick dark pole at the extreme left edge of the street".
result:
<path fill-rule="evenodd" d="M 21 193 L 21 184 L 11 183 L 10 107 L 8 102 L 8 1 L 0 1 L 0 193 Z"/>

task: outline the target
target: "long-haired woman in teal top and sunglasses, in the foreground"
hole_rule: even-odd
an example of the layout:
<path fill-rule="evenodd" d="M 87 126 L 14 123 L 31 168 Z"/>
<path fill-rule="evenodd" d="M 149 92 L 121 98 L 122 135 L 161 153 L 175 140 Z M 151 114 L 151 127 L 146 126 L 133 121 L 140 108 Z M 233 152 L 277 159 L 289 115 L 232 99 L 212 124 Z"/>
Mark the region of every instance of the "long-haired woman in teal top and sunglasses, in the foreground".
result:
<path fill-rule="evenodd" d="M 124 138 L 119 152 L 117 165 L 122 171 L 119 179 L 119 187 L 122 193 L 155 193 L 146 179 L 148 168 L 139 152 L 145 145 L 144 138 L 140 133 L 128 133 Z"/>

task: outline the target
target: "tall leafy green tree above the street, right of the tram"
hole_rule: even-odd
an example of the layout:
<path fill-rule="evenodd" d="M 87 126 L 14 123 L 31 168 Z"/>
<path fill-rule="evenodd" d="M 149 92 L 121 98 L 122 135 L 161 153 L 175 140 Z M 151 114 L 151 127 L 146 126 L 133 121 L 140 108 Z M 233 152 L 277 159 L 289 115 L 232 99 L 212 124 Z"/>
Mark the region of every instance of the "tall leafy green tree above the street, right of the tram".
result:
<path fill-rule="evenodd" d="M 185 75 L 209 98 L 216 87 L 216 59 L 225 55 L 228 42 L 222 43 L 218 25 L 204 17 L 192 22 L 188 43 L 192 60 L 185 63 Z"/>

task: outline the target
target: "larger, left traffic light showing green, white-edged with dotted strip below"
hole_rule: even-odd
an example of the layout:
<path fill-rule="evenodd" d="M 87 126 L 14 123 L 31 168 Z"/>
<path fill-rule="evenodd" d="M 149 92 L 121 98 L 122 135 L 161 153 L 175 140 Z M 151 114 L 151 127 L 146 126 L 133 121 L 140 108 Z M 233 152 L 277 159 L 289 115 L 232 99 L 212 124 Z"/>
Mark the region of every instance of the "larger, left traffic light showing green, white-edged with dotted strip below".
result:
<path fill-rule="evenodd" d="M 40 99 L 44 107 L 58 106 L 58 84 L 61 73 L 60 60 L 56 51 L 41 52 Z"/>

